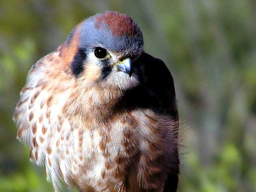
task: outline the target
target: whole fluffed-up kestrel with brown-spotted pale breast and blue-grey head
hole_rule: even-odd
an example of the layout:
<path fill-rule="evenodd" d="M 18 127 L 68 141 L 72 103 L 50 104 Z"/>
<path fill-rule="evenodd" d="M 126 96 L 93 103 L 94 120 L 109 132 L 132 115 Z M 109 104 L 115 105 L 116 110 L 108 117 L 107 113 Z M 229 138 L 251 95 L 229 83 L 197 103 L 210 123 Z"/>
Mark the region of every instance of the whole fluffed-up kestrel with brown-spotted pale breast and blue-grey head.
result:
<path fill-rule="evenodd" d="M 13 120 L 55 191 L 177 190 L 174 80 L 144 51 L 128 14 L 105 11 L 75 26 L 28 72 Z"/>

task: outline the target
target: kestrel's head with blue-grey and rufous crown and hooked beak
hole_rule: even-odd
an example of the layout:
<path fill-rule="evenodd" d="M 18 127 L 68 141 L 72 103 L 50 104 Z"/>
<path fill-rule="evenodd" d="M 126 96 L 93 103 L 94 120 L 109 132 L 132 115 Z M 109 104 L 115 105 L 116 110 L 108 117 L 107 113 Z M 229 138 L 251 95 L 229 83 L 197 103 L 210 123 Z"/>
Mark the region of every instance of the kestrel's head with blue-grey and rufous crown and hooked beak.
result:
<path fill-rule="evenodd" d="M 143 48 L 136 22 L 107 11 L 78 24 L 60 48 L 60 57 L 77 80 L 127 90 L 138 84 L 134 62 Z"/>

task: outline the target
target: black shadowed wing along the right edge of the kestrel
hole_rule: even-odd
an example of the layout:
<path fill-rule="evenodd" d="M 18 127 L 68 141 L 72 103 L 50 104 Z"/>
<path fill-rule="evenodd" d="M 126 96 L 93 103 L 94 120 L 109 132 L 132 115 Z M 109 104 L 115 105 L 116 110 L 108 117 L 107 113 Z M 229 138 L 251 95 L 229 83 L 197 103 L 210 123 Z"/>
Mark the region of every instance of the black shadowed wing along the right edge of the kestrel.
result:
<path fill-rule="evenodd" d="M 144 86 L 146 86 L 145 88 L 148 90 L 148 94 L 150 94 L 148 98 L 150 98 L 150 103 L 153 105 L 152 107 L 156 108 L 156 110 L 160 110 L 161 113 L 172 116 L 172 118 L 177 121 L 175 155 L 172 159 L 172 167 L 164 187 L 164 192 L 176 192 L 180 161 L 178 156 L 179 117 L 176 106 L 174 81 L 172 74 L 162 60 L 143 53 L 139 61 L 140 68 L 144 73 Z"/>

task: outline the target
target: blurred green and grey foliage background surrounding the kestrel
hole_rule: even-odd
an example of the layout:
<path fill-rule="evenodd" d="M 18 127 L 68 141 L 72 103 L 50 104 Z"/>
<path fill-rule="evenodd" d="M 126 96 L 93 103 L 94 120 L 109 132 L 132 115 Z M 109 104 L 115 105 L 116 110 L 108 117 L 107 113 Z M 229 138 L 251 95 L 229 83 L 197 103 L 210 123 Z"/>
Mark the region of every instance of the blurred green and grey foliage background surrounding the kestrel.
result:
<path fill-rule="evenodd" d="M 53 191 L 12 122 L 37 60 L 84 18 L 129 14 L 175 80 L 185 147 L 180 192 L 256 191 L 255 0 L 0 1 L 0 191 Z"/>

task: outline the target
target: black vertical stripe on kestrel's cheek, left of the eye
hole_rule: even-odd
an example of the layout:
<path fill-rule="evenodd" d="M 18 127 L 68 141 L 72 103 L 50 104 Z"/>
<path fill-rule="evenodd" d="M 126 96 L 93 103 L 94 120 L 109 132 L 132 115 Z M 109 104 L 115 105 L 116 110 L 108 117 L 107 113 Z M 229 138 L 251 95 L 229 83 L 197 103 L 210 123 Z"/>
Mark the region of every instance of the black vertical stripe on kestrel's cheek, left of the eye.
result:
<path fill-rule="evenodd" d="M 79 49 L 76 56 L 74 56 L 74 59 L 71 64 L 71 69 L 73 74 L 78 77 L 81 72 L 84 70 L 84 60 L 86 59 L 86 53 L 83 49 Z"/>

